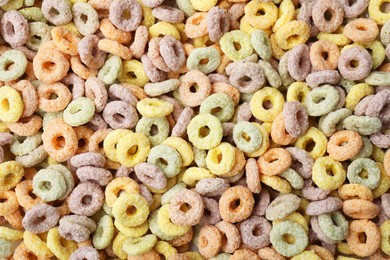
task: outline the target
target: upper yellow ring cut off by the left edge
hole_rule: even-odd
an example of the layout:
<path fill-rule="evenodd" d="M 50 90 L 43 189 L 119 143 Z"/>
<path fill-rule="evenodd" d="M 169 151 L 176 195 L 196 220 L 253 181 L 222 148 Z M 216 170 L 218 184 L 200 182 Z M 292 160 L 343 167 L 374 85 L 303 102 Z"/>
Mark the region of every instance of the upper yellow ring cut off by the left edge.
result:
<path fill-rule="evenodd" d="M 23 114 L 23 101 L 18 91 L 4 86 L 0 88 L 0 120 L 14 123 Z"/>

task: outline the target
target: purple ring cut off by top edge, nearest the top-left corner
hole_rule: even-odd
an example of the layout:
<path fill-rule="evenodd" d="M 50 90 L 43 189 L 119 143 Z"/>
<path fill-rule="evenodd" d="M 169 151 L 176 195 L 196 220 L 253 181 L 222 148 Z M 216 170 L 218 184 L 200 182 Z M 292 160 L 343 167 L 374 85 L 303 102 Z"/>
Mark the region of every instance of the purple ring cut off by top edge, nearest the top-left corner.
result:
<path fill-rule="evenodd" d="M 55 26 L 64 25 L 72 21 L 72 10 L 69 1 L 44 0 L 41 11 L 45 19 Z"/>

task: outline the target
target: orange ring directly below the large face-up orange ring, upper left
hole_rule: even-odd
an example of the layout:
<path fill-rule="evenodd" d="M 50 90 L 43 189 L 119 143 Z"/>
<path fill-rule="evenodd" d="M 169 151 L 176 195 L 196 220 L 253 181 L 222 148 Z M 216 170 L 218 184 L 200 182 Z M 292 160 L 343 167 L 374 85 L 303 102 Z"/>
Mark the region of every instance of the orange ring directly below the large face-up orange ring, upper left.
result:
<path fill-rule="evenodd" d="M 72 99 L 68 87 L 60 82 L 53 84 L 40 84 L 37 89 L 38 107 L 45 112 L 58 112 L 64 110 Z M 56 98 L 52 99 L 52 96 Z"/>

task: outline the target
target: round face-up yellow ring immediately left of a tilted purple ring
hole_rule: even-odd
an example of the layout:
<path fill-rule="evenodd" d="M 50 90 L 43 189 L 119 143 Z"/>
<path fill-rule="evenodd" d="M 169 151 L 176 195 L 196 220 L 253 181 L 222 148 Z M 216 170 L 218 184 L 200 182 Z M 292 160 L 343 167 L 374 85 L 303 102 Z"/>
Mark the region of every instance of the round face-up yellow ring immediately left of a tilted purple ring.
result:
<path fill-rule="evenodd" d="M 265 108 L 264 104 L 270 102 L 271 108 Z M 250 101 L 251 111 L 254 117 L 264 122 L 273 121 L 283 110 L 284 97 L 275 88 L 265 87 L 258 90 Z"/>

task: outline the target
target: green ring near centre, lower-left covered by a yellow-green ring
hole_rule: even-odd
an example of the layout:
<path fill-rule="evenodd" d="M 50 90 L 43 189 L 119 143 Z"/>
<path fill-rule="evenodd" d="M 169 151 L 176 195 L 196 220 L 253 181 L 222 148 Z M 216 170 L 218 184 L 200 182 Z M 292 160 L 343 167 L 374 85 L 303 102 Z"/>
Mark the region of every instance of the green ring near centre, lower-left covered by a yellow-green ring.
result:
<path fill-rule="evenodd" d="M 234 102 L 225 93 L 208 96 L 200 105 L 199 114 L 211 114 L 221 122 L 229 121 L 234 114 Z"/>

